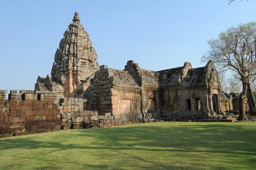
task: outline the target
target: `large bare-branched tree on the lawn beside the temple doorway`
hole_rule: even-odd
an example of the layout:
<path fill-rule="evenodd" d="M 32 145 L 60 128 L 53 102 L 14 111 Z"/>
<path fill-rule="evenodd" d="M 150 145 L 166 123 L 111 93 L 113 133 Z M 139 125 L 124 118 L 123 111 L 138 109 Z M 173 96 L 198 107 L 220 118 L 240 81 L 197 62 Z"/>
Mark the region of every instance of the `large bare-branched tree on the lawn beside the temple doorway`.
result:
<path fill-rule="evenodd" d="M 244 103 L 248 98 L 251 112 L 256 113 L 252 92 L 252 78 L 256 67 L 256 22 L 240 24 L 221 32 L 218 38 L 208 41 L 209 51 L 201 57 L 201 61 L 212 60 L 218 68 L 231 70 L 240 76 L 242 95 L 239 120 L 247 120 Z M 250 89 L 250 92 L 247 90 Z"/>

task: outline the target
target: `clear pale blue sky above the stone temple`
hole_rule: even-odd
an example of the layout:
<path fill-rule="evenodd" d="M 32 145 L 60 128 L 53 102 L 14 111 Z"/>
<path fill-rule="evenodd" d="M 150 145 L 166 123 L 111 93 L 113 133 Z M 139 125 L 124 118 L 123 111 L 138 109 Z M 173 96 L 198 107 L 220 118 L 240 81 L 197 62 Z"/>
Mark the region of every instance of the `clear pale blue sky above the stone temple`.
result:
<path fill-rule="evenodd" d="M 100 65 L 163 70 L 201 67 L 207 40 L 256 20 L 256 0 L 0 0 L 0 89 L 34 89 L 79 12 Z"/>

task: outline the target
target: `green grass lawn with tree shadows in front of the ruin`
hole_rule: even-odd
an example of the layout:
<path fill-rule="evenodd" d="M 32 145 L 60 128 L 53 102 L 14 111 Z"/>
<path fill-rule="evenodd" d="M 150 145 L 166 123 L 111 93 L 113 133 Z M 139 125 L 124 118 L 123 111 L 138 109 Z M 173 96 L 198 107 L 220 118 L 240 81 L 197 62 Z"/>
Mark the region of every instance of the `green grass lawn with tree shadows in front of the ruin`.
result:
<path fill-rule="evenodd" d="M 256 122 L 159 122 L 0 139 L 0 170 L 256 170 Z"/>

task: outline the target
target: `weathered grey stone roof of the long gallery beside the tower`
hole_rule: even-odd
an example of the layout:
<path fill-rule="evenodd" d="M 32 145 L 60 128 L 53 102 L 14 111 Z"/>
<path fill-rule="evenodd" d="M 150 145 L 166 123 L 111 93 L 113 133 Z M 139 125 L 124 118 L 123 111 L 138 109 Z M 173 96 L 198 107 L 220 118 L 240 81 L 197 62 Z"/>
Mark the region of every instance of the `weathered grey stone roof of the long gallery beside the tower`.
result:
<path fill-rule="evenodd" d="M 111 69 L 113 71 L 114 84 L 117 86 L 140 88 L 152 86 L 165 88 L 172 86 L 193 87 L 206 86 L 210 81 L 209 69 L 215 66 L 208 62 L 206 66 L 193 69 L 191 63 L 185 62 L 184 66 L 161 71 L 140 69 L 134 61 L 128 61 L 125 70 Z M 214 68 L 213 68 L 214 67 Z"/>

